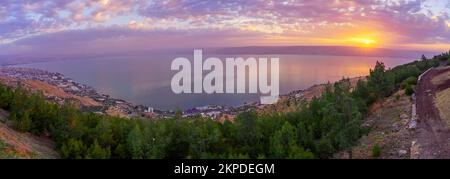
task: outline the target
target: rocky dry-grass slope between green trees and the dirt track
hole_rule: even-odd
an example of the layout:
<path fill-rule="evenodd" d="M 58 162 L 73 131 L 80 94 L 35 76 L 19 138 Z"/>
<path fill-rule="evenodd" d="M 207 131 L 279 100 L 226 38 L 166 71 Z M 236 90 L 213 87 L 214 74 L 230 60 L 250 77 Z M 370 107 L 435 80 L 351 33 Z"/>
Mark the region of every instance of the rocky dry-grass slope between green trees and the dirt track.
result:
<path fill-rule="evenodd" d="M 411 106 L 413 101 L 405 92 L 399 91 L 382 102 L 371 107 L 371 113 L 365 118 L 363 126 L 370 132 L 363 136 L 358 145 L 349 151 L 338 153 L 336 158 L 353 159 L 409 159 L 414 129 L 410 127 L 412 120 Z M 374 148 L 379 154 L 374 155 Z"/>

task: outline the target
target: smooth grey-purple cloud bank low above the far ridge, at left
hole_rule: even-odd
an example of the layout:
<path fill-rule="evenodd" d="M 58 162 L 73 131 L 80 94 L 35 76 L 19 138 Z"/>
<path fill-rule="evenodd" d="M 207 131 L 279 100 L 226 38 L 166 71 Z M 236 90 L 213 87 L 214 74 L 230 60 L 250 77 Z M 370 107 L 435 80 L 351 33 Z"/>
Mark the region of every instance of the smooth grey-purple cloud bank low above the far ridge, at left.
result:
<path fill-rule="evenodd" d="M 126 53 L 132 51 L 210 48 L 255 42 L 262 33 L 240 30 L 141 30 L 126 27 L 108 27 L 69 30 L 21 39 L 4 49 L 21 49 L 21 53 L 41 55 L 82 55 Z M 133 44 L 133 45 L 130 45 Z M 5 51 L 6 52 L 6 51 Z M 0 53 L 1 55 L 1 53 Z"/>

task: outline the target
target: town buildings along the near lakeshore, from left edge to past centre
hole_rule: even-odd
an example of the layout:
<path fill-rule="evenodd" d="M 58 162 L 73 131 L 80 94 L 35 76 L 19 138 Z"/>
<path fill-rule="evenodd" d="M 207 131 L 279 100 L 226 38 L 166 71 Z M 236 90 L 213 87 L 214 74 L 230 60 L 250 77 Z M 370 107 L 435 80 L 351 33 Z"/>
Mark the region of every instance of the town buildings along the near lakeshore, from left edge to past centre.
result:
<path fill-rule="evenodd" d="M 160 110 L 150 106 L 136 105 L 123 99 L 113 98 L 107 94 L 101 94 L 94 88 L 75 82 L 73 79 L 64 76 L 61 73 L 48 72 L 45 70 L 22 67 L 1 67 L 0 76 L 16 79 L 19 81 L 40 81 L 62 89 L 68 94 L 74 96 L 92 99 L 101 105 L 81 106 L 83 111 L 94 112 L 97 114 L 109 114 L 124 118 L 148 118 L 148 119 L 168 119 L 177 115 L 183 118 L 203 116 L 213 120 L 233 121 L 235 116 L 242 111 L 253 108 L 260 108 L 263 105 L 258 102 L 245 103 L 241 106 L 220 106 L 207 105 L 186 109 L 184 111 L 177 110 Z M 71 99 L 61 98 L 52 95 L 45 95 L 48 101 L 58 104 L 64 104 Z"/>

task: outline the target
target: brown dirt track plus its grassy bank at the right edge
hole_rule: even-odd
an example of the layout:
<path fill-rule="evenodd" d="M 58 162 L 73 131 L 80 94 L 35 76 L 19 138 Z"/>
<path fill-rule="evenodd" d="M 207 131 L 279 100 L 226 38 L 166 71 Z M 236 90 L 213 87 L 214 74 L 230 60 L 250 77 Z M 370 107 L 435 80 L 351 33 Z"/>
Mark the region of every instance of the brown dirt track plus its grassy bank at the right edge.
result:
<path fill-rule="evenodd" d="M 450 67 L 423 74 L 417 88 L 419 158 L 450 158 Z"/>

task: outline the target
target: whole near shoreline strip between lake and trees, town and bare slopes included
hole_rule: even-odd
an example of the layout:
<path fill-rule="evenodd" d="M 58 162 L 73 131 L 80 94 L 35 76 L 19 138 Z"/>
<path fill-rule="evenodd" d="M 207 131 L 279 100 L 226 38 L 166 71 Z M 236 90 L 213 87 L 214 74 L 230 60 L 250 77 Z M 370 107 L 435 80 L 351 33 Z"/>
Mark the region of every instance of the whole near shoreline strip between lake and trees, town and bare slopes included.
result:
<path fill-rule="evenodd" d="M 85 101 L 89 99 L 99 103 L 101 105 L 81 105 L 83 111 L 94 112 L 97 114 L 107 114 L 112 116 L 124 117 L 124 118 L 134 118 L 134 117 L 144 117 L 144 118 L 159 118 L 165 119 L 174 117 L 178 110 L 169 109 L 162 110 L 153 108 L 151 106 L 145 106 L 141 104 L 134 104 L 132 102 L 115 98 L 107 94 L 98 92 L 93 87 L 81 84 L 75 80 L 66 77 L 64 74 L 57 72 L 49 72 L 37 68 L 29 67 L 16 67 L 16 66 L 0 66 L 0 77 L 7 77 L 16 80 L 19 83 L 31 84 L 31 88 L 37 88 L 37 90 L 42 90 L 49 94 L 44 95 L 49 101 L 56 102 L 58 104 L 64 104 L 65 101 L 71 101 L 70 98 L 76 98 L 69 96 L 67 99 L 61 96 L 53 94 L 57 89 L 62 89 L 63 92 L 70 95 L 79 96 L 85 98 Z M 350 78 L 352 81 L 357 81 L 361 77 Z M 356 80 L 355 80 L 356 79 Z M 36 84 L 36 81 L 47 83 L 56 88 L 46 86 L 45 84 Z M 1 82 L 1 78 L 0 78 Z M 329 82 L 334 83 L 334 82 Z M 306 89 L 293 90 L 287 94 L 281 94 L 280 100 L 276 104 L 263 105 L 257 101 L 246 101 L 241 105 L 237 106 L 226 106 L 226 105 L 204 105 L 197 106 L 194 108 L 182 110 L 183 117 L 192 117 L 201 115 L 203 117 L 210 117 L 214 120 L 223 121 L 225 119 L 234 120 L 237 114 L 249 109 L 256 109 L 258 111 L 268 110 L 268 107 L 276 107 L 281 105 L 282 101 L 302 101 L 310 100 L 314 96 L 318 96 L 322 93 L 324 84 L 315 84 Z M 44 86 L 44 87 L 42 87 Z M 50 88 L 50 91 L 45 91 Z M 44 90 L 43 90 L 44 89 Z M 33 89 L 36 90 L 36 89 Z M 93 103 L 92 101 L 88 104 Z"/>

